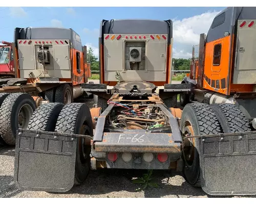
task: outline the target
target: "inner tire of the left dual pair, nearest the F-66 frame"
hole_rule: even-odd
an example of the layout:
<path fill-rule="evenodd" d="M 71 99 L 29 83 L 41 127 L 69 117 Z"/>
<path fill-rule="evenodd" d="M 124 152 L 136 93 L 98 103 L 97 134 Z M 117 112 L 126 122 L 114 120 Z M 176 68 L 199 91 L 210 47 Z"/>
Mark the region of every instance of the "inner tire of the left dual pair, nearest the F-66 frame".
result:
<path fill-rule="evenodd" d="M 93 136 L 93 122 L 88 106 L 82 103 L 65 105 L 59 113 L 55 131 Z M 84 145 L 83 142 L 83 138 L 77 138 L 75 185 L 83 183 L 90 170 L 91 145 Z"/>

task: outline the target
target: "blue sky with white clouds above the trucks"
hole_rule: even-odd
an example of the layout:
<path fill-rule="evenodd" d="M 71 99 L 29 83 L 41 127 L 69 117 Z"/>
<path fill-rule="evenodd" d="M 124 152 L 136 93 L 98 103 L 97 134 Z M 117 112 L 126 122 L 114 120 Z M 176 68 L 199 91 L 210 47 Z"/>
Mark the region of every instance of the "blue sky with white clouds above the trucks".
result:
<path fill-rule="evenodd" d="M 102 19 L 173 20 L 173 57 L 191 58 L 214 17 L 225 7 L 0 7 L 0 41 L 13 41 L 16 27 L 63 27 L 77 32 L 98 57 Z"/>

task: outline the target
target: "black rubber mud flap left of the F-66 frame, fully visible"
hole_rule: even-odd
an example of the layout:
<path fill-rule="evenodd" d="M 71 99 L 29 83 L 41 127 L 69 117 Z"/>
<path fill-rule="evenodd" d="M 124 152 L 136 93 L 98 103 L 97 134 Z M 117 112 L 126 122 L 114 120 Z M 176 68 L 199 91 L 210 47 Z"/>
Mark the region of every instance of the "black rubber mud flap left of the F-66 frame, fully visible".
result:
<path fill-rule="evenodd" d="M 22 190 L 66 192 L 74 185 L 77 138 L 18 130 L 14 181 Z"/>

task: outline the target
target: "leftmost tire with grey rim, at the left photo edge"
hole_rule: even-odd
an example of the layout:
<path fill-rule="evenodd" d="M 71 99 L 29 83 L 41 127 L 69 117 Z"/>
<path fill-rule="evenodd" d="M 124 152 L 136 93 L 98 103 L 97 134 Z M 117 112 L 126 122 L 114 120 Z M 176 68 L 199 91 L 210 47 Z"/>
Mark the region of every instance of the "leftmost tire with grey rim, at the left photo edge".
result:
<path fill-rule="evenodd" d="M 35 101 L 27 93 L 12 93 L 4 99 L 0 107 L 0 132 L 5 143 L 15 145 L 16 131 L 27 129 L 35 109 Z"/>

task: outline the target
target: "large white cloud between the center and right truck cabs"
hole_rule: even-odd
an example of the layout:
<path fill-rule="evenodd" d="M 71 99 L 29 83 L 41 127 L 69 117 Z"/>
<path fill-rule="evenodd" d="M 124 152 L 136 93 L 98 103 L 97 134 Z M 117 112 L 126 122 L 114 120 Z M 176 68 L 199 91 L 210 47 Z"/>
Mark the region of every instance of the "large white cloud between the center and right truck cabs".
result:
<path fill-rule="evenodd" d="M 201 33 L 207 34 L 218 13 L 206 12 L 182 20 L 173 19 L 173 58 L 191 58 L 192 46 L 199 44 Z"/>

